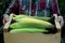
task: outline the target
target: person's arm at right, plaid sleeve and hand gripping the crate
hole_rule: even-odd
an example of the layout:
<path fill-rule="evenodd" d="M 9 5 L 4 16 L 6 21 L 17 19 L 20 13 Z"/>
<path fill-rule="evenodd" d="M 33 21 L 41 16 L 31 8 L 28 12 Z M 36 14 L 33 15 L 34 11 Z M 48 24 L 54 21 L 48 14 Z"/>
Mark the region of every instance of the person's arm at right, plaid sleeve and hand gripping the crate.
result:
<path fill-rule="evenodd" d="M 58 3 L 57 3 L 57 0 L 53 0 L 53 2 L 55 3 L 53 3 L 53 15 L 55 16 L 55 19 L 60 23 L 60 25 L 61 25 L 61 28 L 63 27 L 63 25 L 64 25 L 64 19 L 63 19 L 63 17 L 62 17 L 62 15 L 61 15 L 61 13 L 60 13 L 60 9 L 58 9 Z"/>

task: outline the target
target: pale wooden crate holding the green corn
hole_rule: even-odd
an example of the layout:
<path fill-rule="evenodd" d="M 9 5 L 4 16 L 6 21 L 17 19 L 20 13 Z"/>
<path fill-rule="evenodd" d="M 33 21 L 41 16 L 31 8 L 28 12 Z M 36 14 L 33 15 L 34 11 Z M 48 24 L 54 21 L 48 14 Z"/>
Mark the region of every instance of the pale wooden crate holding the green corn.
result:
<path fill-rule="evenodd" d="M 3 34 L 4 43 L 61 43 L 61 27 L 58 29 L 57 22 L 55 22 L 57 33 L 10 33 L 9 26 L 11 24 L 13 14 L 10 15 L 9 22 L 4 25 Z"/>

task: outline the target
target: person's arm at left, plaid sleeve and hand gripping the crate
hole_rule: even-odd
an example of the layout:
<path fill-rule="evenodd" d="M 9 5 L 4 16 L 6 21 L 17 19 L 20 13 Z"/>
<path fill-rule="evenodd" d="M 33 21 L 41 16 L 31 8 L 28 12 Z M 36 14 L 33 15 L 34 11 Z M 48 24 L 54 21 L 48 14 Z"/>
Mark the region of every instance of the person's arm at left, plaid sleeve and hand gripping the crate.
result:
<path fill-rule="evenodd" d="M 12 11 L 14 6 L 15 0 L 12 0 L 11 3 L 9 4 L 9 8 L 6 9 L 5 13 L 3 14 L 3 24 L 5 24 L 9 20 L 9 15 L 10 12 Z"/>

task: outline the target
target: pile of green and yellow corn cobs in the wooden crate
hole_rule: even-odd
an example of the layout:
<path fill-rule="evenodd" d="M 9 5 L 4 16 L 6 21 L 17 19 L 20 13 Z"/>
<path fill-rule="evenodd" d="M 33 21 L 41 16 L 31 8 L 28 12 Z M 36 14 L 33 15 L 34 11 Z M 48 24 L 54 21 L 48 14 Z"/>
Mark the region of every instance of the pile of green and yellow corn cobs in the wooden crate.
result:
<path fill-rule="evenodd" d="M 39 17 L 28 15 L 15 15 L 14 23 L 10 25 L 10 33 L 42 33 L 54 29 L 54 25 L 49 23 L 51 17 Z"/>

